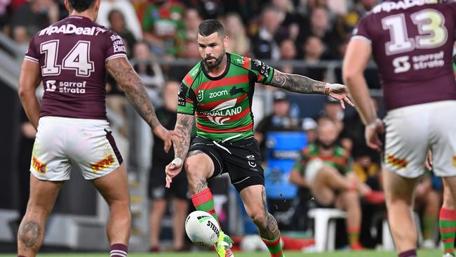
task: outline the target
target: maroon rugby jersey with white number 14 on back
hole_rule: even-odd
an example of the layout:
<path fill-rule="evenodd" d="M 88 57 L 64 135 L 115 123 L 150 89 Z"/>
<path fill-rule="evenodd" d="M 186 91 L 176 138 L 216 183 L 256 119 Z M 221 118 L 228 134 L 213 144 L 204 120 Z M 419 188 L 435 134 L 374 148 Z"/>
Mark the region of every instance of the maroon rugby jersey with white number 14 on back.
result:
<path fill-rule="evenodd" d="M 105 62 L 126 57 L 123 40 L 89 18 L 69 16 L 36 33 L 25 59 L 41 67 L 40 116 L 106 119 Z"/>

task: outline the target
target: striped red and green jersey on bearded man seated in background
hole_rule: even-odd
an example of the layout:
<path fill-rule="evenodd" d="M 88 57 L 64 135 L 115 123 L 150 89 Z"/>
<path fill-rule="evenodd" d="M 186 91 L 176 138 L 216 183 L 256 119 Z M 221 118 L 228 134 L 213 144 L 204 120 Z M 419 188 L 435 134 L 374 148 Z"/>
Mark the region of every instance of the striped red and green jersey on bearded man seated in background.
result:
<path fill-rule="evenodd" d="M 311 144 L 308 145 L 302 153 L 300 157 L 296 160 L 295 166 L 293 169 L 304 173 L 306 170 L 305 167 L 307 163 L 313 159 L 321 159 L 324 164 L 334 167 L 339 171 L 341 174 L 347 173 L 349 171 L 349 164 L 350 164 L 350 154 L 344 147 L 340 145 L 336 145 L 334 147 L 333 155 L 331 156 L 322 156 L 320 151 L 318 150 L 317 145 Z"/>

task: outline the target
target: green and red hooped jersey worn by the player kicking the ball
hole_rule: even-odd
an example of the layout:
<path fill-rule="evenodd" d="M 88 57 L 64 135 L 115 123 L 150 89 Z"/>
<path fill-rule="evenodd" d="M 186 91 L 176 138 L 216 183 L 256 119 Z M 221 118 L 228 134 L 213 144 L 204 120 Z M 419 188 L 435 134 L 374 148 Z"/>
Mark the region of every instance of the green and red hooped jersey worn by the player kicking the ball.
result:
<path fill-rule="evenodd" d="M 196 115 L 196 133 L 216 142 L 235 142 L 253 136 L 251 110 L 255 83 L 269 84 L 274 68 L 260 60 L 227 53 L 227 67 L 210 77 L 199 62 L 185 75 L 177 112 Z"/>

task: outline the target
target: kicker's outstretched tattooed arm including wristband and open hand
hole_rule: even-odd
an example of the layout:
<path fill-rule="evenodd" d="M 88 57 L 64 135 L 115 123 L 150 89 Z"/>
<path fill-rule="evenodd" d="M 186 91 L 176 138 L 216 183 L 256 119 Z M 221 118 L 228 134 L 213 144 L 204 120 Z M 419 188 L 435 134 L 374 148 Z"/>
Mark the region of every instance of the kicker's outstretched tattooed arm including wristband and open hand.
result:
<path fill-rule="evenodd" d="M 274 76 L 269 85 L 296 93 L 330 95 L 332 98 L 340 100 L 340 105 L 342 105 L 342 107 L 345 107 L 344 101 L 349 105 L 354 106 L 347 97 L 346 87 L 342 84 L 329 84 L 298 74 L 288 74 L 280 72 L 279 70 L 274 70 Z"/>

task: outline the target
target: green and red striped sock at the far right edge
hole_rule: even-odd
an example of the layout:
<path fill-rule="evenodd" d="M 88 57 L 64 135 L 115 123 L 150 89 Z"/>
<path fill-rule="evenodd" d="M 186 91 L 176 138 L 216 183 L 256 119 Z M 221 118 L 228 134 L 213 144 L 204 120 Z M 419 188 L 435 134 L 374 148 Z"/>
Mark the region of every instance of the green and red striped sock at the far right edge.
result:
<path fill-rule="evenodd" d="M 442 207 L 438 223 L 440 224 L 443 251 L 455 256 L 456 211 Z"/>

